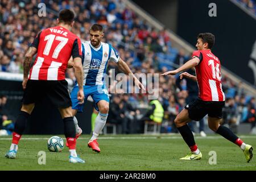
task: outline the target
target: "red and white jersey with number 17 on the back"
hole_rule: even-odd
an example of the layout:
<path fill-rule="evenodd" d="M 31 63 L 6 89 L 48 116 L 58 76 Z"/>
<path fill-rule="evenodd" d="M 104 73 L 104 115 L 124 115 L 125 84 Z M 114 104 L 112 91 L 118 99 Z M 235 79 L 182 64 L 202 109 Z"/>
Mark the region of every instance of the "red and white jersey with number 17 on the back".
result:
<path fill-rule="evenodd" d="M 65 80 L 70 57 L 82 57 L 79 37 L 60 26 L 41 31 L 31 46 L 38 49 L 38 54 L 30 69 L 30 80 Z"/>

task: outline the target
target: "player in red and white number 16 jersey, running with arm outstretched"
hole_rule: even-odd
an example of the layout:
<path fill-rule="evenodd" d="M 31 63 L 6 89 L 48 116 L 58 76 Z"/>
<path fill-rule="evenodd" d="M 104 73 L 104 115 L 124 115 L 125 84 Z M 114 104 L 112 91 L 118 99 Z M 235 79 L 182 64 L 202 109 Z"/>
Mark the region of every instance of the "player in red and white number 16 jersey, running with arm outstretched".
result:
<path fill-rule="evenodd" d="M 222 137 L 236 143 L 245 154 L 246 162 L 253 158 L 253 147 L 232 133 L 227 127 L 221 126 L 222 107 L 225 105 L 225 94 L 221 87 L 221 63 L 218 57 L 214 56 L 212 49 L 214 44 L 214 35 L 210 33 L 199 34 L 197 36 L 197 51 L 192 54 L 192 59 L 187 61 L 180 68 L 174 71 L 163 73 L 164 75 L 176 75 L 179 72 L 195 67 L 196 76 L 187 72 L 181 73 L 180 78 L 187 77 L 197 81 L 199 86 L 199 98 L 192 101 L 175 118 L 175 125 L 180 131 L 183 139 L 191 149 L 189 153 L 181 160 L 199 160 L 202 153 L 197 148 L 192 131 L 187 123 L 195 120 L 199 121 L 208 114 L 208 126 L 214 132 Z"/>

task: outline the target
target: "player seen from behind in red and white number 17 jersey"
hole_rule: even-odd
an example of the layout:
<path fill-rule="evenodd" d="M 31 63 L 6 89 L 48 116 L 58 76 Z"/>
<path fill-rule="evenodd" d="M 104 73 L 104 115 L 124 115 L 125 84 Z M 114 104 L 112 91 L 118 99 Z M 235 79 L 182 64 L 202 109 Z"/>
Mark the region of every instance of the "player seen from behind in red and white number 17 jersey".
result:
<path fill-rule="evenodd" d="M 75 14 L 64 9 L 60 11 L 57 19 L 58 25 L 42 30 L 34 39 L 24 58 L 24 72 L 22 86 L 24 89 L 22 108 L 15 122 L 13 141 L 6 158 L 15 158 L 18 143 L 26 128 L 35 103 L 48 97 L 56 106 L 63 118 L 64 134 L 69 144 L 69 162 L 84 163 L 76 154 L 76 130 L 73 123 L 71 98 L 68 92 L 68 82 L 65 80 L 65 71 L 68 60 L 72 56 L 75 76 L 79 85 L 77 98 L 84 102 L 84 89 L 82 86 L 82 53 L 81 40 L 71 32 L 74 25 Z M 32 57 L 37 53 L 35 63 L 28 71 Z"/>

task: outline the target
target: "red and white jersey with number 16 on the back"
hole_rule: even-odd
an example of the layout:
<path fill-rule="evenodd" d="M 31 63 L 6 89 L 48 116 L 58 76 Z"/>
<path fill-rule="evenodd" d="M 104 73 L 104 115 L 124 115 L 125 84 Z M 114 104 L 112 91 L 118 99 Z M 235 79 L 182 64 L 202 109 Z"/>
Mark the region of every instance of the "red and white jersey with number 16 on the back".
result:
<path fill-rule="evenodd" d="M 199 85 L 199 98 L 203 101 L 225 101 L 221 85 L 221 64 L 210 49 L 194 51 L 192 57 L 199 57 L 196 78 Z"/>

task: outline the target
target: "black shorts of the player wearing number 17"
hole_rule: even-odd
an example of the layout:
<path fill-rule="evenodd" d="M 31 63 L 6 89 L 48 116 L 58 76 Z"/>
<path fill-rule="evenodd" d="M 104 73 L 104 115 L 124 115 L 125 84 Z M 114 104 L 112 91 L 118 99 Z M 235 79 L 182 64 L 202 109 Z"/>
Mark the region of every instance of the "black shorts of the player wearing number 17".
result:
<path fill-rule="evenodd" d="M 24 105 L 36 103 L 48 97 L 56 107 L 72 106 L 66 80 L 28 80 L 24 90 L 22 103 Z"/>

